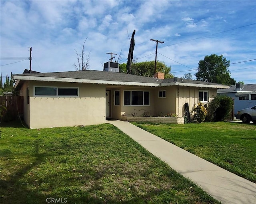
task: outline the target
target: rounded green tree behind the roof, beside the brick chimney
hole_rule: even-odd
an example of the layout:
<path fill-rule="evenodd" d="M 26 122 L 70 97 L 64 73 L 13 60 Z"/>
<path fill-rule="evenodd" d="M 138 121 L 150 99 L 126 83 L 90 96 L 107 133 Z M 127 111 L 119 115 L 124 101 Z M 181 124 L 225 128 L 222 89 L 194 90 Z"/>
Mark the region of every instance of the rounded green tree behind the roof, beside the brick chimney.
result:
<path fill-rule="evenodd" d="M 132 64 L 132 74 L 144 76 L 144 77 L 154 77 L 155 61 L 144 61 Z M 162 61 L 156 62 L 156 72 L 163 72 L 164 78 L 173 78 L 174 75 L 170 73 L 171 66 L 167 66 Z"/>

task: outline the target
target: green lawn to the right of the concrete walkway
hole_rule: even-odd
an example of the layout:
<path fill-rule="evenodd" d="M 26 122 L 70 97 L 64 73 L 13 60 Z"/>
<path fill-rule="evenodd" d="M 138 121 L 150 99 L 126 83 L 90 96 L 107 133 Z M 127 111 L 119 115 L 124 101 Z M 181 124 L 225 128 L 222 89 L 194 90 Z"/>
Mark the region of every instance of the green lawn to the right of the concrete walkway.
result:
<path fill-rule="evenodd" d="M 234 174 L 256 182 L 254 124 L 133 124 Z"/>

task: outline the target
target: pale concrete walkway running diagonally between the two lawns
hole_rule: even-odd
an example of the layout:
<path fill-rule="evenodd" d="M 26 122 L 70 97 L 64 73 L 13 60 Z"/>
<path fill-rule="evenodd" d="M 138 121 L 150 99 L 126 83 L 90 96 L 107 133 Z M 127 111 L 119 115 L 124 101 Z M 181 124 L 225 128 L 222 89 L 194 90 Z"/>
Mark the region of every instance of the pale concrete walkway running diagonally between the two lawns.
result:
<path fill-rule="evenodd" d="M 126 121 L 106 121 L 223 204 L 256 204 L 256 184 Z"/>

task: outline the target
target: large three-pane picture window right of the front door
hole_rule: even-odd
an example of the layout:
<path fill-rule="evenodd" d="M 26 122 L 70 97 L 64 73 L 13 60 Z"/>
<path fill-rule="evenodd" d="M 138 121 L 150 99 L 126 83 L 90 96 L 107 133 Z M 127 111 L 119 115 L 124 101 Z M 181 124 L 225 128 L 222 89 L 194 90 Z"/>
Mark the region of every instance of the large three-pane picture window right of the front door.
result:
<path fill-rule="evenodd" d="M 149 91 L 124 91 L 124 105 L 149 105 Z"/>

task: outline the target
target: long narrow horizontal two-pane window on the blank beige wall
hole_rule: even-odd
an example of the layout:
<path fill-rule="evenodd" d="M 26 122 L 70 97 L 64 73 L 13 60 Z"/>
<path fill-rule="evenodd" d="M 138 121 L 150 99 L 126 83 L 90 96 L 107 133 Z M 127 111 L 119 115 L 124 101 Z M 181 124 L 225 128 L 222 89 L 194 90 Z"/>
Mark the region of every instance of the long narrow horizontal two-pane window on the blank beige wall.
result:
<path fill-rule="evenodd" d="M 34 87 L 35 96 L 78 96 L 78 88 Z"/>

